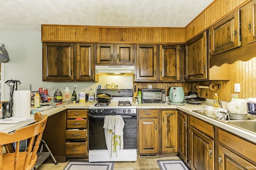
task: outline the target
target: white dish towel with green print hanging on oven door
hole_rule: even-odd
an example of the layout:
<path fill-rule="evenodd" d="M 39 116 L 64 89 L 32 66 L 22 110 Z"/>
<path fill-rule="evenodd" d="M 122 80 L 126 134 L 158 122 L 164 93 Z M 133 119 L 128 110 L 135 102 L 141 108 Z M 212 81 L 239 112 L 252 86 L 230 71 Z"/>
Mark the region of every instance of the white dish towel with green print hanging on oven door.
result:
<path fill-rule="evenodd" d="M 118 157 L 120 149 L 124 149 L 124 120 L 122 116 L 105 116 L 103 128 L 110 158 Z"/>

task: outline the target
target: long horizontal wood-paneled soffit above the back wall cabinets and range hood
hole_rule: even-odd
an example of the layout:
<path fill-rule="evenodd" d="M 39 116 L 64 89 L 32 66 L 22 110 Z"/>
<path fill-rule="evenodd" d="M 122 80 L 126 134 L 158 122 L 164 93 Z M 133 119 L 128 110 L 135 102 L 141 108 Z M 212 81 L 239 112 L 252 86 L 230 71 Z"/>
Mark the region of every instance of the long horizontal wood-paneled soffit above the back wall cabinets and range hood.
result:
<path fill-rule="evenodd" d="M 107 27 L 42 25 L 42 42 L 184 43 L 185 29 L 172 27 Z"/>

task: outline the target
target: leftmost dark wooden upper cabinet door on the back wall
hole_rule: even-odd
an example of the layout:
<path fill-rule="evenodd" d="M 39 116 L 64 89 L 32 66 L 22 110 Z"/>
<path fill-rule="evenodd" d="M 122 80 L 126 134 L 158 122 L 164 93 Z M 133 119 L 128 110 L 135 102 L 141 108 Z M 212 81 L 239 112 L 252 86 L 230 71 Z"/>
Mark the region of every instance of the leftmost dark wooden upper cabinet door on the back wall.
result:
<path fill-rule="evenodd" d="M 43 81 L 74 81 L 74 43 L 43 43 Z"/>

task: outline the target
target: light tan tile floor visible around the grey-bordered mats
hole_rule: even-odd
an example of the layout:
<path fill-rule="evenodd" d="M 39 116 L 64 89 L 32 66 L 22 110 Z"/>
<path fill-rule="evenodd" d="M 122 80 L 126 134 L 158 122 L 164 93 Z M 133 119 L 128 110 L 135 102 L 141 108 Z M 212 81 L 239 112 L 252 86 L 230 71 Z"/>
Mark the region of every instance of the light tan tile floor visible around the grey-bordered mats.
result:
<path fill-rule="evenodd" d="M 159 170 L 157 160 L 180 160 L 180 157 L 138 157 L 136 162 L 115 162 L 114 170 Z M 68 161 L 58 165 L 54 165 L 54 163 L 41 164 L 36 170 L 63 170 L 66 164 L 68 164 Z"/>

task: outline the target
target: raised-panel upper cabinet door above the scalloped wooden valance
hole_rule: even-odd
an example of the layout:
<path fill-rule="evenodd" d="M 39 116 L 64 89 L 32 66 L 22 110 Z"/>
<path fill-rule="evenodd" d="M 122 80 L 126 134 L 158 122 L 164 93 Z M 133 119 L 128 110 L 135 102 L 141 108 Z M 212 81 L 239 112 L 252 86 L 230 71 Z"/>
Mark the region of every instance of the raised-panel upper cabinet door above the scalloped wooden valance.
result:
<path fill-rule="evenodd" d="M 236 10 L 210 27 L 210 54 L 215 55 L 240 45 L 240 10 Z"/>

